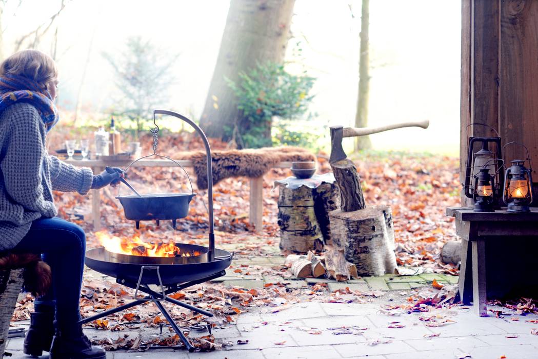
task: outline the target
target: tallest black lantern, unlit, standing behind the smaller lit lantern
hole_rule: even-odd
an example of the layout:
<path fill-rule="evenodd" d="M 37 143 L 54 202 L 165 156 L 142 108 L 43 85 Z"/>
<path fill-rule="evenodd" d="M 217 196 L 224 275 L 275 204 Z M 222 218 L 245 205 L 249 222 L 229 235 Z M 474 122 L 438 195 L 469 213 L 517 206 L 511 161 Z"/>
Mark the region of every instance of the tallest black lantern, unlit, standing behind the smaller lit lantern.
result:
<path fill-rule="evenodd" d="M 480 176 L 480 172 L 483 172 L 482 170 L 487 168 L 493 179 L 493 198 L 498 200 L 502 194 L 502 178 L 499 177 L 504 173 L 504 161 L 502 161 L 501 155 L 501 138 L 498 136 L 498 132 L 488 125 L 482 123 L 472 123 L 471 125 L 489 127 L 497 134 L 497 137 L 469 137 L 469 152 L 467 154 L 467 166 L 465 168 L 465 196 L 475 199 L 475 193 L 478 191 L 476 188 L 477 176 Z M 498 203 L 494 203 L 493 206 L 500 208 Z"/>

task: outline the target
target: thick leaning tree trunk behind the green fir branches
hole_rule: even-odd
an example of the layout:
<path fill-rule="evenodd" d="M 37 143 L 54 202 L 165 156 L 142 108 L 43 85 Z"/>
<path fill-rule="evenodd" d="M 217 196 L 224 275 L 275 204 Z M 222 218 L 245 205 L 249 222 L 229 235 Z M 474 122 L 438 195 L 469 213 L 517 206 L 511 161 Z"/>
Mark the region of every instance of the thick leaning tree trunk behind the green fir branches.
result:
<path fill-rule="evenodd" d="M 238 82 L 257 62 L 282 62 L 295 0 L 231 0 L 200 126 L 208 137 L 230 140 L 242 112 L 225 79 Z"/>

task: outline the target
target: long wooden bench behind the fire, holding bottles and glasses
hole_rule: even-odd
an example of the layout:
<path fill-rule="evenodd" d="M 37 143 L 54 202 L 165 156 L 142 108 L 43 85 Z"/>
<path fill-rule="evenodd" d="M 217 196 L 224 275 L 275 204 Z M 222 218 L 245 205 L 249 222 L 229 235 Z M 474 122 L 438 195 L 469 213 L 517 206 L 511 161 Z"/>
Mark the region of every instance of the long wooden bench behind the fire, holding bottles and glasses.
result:
<path fill-rule="evenodd" d="M 176 160 L 183 167 L 192 167 L 193 163 L 190 160 Z M 103 161 L 100 159 L 91 160 L 65 160 L 66 163 L 78 167 L 90 167 L 94 173 L 100 173 L 105 166 L 125 168 L 132 160 L 121 161 Z M 280 162 L 273 168 L 289 168 L 291 162 Z M 177 166 L 171 160 L 167 159 L 142 159 L 133 165 L 133 167 L 173 167 Z M 249 202 L 249 222 L 256 228 L 261 230 L 263 221 L 263 177 L 250 179 L 250 202 Z M 101 229 L 101 191 L 94 189 L 91 194 L 91 214 L 94 230 Z"/>

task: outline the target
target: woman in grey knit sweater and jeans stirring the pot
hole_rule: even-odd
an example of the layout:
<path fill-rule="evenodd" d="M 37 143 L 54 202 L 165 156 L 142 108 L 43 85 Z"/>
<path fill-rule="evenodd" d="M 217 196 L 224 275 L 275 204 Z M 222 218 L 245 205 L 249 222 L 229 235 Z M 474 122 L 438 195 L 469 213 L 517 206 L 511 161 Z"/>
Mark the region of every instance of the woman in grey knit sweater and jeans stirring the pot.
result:
<path fill-rule="evenodd" d="M 116 168 L 94 175 L 47 154 L 47 132 L 58 122 L 57 87 L 54 60 L 39 51 L 19 51 L 0 65 L 0 250 L 41 254 L 52 270 L 51 290 L 31 313 L 24 353 L 106 358 L 79 324 L 86 236 L 56 217 L 52 191 L 87 194 L 123 174 Z"/>

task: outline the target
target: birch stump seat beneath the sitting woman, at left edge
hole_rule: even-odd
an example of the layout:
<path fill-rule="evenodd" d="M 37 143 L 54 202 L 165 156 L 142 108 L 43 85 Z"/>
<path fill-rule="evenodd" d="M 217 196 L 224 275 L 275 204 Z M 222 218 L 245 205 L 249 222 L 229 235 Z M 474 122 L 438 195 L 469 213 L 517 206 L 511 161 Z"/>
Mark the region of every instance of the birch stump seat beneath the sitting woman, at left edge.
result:
<path fill-rule="evenodd" d="M 0 270 L 0 358 L 8 341 L 9 323 L 23 286 L 24 269 Z"/>

